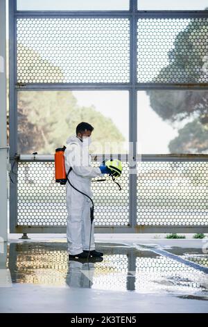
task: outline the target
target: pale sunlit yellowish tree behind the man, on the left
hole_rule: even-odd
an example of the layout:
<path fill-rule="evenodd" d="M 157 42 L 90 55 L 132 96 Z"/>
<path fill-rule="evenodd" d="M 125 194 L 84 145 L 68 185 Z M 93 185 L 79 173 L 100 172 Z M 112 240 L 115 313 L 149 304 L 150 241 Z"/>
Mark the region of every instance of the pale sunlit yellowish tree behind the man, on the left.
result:
<path fill-rule="evenodd" d="M 29 56 L 30 60 L 24 61 Z M 63 72 L 59 67 L 42 58 L 33 49 L 18 45 L 18 70 L 35 77 L 35 71 L 42 71 L 45 81 L 62 81 Z M 43 69 L 44 67 L 44 69 Z M 21 74 L 19 74 L 21 75 Z M 49 80 L 50 77 L 50 80 Z M 33 80 L 33 79 L 32 79 Z M 18 82 L 24 83 L 25 79 Z M 76 125 L 87 121 L 94 127 L 94 140 L 122 142 L 125 138 L 110 118 L 96 111 L 94 106 L 80 107 L 71 91 L 19 91 L 17 104 L 18 152 L 51 154 L 55 147 L 63 145 Z"/>

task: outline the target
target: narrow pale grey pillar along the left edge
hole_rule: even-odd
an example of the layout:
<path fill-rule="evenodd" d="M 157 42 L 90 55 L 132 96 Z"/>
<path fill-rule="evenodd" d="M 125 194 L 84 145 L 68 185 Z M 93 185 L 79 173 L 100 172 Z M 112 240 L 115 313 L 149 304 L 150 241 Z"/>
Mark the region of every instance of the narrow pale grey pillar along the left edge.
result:
<path fill-rule="evenodd" d="M 7 241 L 6 0 L 0 0 L 0 242 Z"/>

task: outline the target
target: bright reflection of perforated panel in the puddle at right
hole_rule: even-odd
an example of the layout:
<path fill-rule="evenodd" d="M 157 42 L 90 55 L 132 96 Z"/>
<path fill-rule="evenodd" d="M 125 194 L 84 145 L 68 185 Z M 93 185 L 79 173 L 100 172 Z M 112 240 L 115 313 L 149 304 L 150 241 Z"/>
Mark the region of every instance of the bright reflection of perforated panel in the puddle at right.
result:
<path fill-rule="evenodd" d="M 139 292 L 196 292 L 207 290 L 207 276 L 166 257 L 137 257 L 135 289 Z"/>

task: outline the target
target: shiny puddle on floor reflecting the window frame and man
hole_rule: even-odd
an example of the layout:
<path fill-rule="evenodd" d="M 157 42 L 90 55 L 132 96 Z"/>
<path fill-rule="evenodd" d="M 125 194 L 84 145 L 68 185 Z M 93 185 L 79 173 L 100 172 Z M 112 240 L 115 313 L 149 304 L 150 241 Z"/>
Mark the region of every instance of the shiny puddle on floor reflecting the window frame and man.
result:
<path fill-rule="evenodd" d="M 208 298 L 207 273 L 153 253 L 150 247 L 100 243 L 96 248 L 103 251 L 103 261 L 69 262 L 67 244 L 62 242 L 12 243 L 7 264 L 14 283 Z M 207 266 L 207 255 L 197 249 L 168 251 Z"/>

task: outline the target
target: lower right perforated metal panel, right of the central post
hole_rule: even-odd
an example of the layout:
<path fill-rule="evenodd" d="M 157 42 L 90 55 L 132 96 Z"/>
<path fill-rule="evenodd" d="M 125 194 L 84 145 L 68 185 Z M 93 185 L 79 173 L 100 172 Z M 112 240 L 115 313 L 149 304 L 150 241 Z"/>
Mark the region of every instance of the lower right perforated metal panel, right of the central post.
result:
<path fill-rule="evenodd" d="M 137 163 L 138 225 L 207 225 L 208 163 Z"/>

